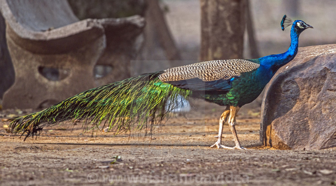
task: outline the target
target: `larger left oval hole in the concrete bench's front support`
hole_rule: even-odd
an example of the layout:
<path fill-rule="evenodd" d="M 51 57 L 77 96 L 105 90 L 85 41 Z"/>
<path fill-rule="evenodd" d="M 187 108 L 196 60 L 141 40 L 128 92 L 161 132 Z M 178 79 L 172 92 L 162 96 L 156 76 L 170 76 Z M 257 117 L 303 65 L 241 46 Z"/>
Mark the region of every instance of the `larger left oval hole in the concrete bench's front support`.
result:
<path fill-rule="evenodd" d="M 39 73 L 50 81 L 59 81 L 69 76 L 69 69 L 39 67 Z"/>

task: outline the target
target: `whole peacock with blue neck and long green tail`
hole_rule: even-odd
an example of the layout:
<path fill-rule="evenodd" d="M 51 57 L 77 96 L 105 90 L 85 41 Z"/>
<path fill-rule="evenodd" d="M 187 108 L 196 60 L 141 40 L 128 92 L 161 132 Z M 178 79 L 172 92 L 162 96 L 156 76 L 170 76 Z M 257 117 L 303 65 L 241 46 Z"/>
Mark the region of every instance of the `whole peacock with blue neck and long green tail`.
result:
<path fill-rule="evenodd" d="M 81 92 L 42 111 L 13 117 L 9 119 L 10 127 L 15 134 L 27 133 L 25 140 L 39 135 L 44 127 L 64 121 L 83 121 L 85 131 L 107 124 L 108 131 L 115 135 L 136 129 L 143 129 L 148 135 L 165 123 L 176 105 L 196 98 L 226 106 L 219 119 L 218 139 L 211 147 L 245 149 L 235 129 L 237 112 L 260 95 L 280 67 L 293 60 L 300 33 L 313 28 L 284 15 L 282 30 L 290 25 L 291 45 L 284 53 L 252 60 L 207 61 L 138 75 Z M 226 121 L 234 147 L 222 145 Z"/>

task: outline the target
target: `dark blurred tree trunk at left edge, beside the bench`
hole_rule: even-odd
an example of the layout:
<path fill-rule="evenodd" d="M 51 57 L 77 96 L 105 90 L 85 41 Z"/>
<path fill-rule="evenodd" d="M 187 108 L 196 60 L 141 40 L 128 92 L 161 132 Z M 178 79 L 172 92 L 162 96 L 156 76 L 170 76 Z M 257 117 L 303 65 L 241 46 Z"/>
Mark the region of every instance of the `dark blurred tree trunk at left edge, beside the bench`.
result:
<path fill-rule="evenodd" d="M 6 43 L 6 24 L 0 13 L 0 99 L 14 83 L 15 72 Z"/>

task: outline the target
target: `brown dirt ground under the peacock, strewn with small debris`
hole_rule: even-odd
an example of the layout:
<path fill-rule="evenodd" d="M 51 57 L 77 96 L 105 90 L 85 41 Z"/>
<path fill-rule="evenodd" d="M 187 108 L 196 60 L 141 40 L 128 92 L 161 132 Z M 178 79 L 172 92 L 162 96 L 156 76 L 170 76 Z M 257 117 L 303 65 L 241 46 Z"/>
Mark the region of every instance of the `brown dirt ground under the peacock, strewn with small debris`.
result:
<path fill-rule="evenodd" d="M 242 109 L 237 132 L 248 150 L 210 148 L 216 141 L 217 105 L 170 118 L 162 131 L 92 137 L 81 124 L 45 128 L 25 142 L 0 124 L 0 185 L 330 185 L 336 184 L 336 148 L 272 150 L 259 142 L 258 109 Z M 1 111 L 2 120 L 21 111 Z M 29 111 L 28 111 L 29 112 Z M 22 113 L 22 114 L 25 114 Z M 223 144 L 234 146 L 229 127 Z M 120 158 L 116 158 L 120 156 Z"/>

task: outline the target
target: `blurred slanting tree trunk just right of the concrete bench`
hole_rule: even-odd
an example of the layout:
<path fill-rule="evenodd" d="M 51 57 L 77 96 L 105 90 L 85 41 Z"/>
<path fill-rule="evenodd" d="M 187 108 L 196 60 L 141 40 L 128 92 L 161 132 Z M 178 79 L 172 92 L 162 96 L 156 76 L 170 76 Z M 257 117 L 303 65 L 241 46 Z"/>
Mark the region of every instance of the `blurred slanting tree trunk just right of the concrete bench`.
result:
<path fill-rule="evenodd" d="M 182 59 L 168 27 L 165 8 L 160 6 L 159 0 L 146 0 L 145 2 L 147 9 L 144 44 L 138 58 L 141 62 L 134 65 L 134 75 L 174 67 L 176 66 L 174 61 Z"/>

